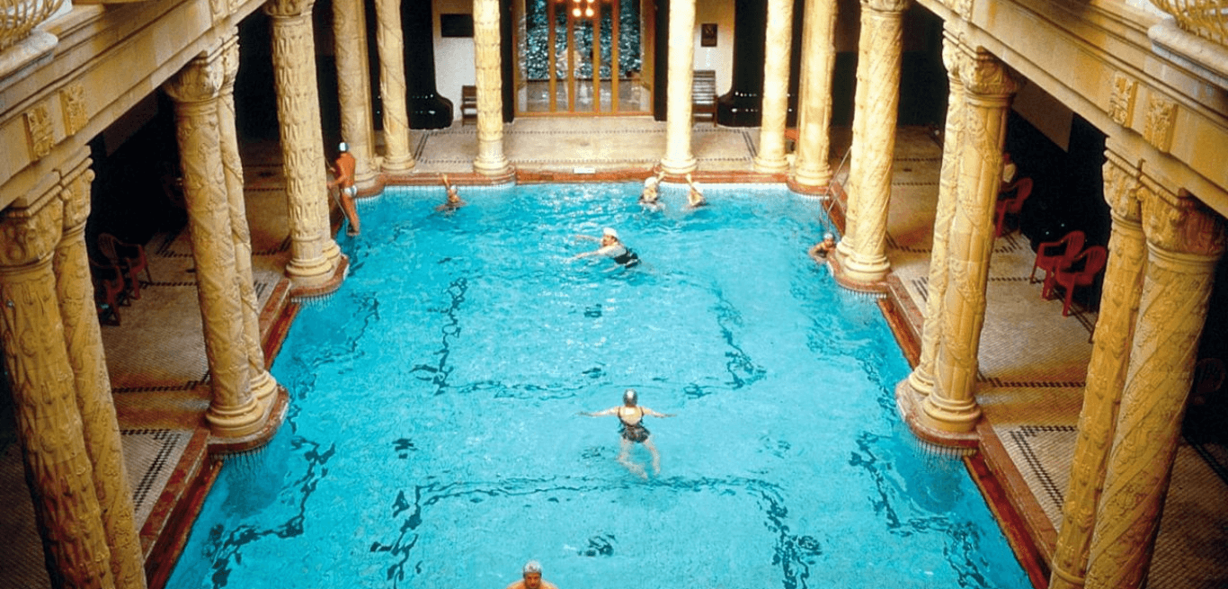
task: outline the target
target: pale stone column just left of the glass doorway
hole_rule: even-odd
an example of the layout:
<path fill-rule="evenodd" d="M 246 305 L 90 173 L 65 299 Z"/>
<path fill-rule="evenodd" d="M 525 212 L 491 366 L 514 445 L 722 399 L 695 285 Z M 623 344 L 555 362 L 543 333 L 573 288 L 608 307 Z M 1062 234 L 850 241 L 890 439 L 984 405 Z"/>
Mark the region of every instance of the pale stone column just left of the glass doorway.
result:
<path fill-rule="evenodd" d="M 503 155 L 503 77 L 499 47 L 499 0 L 474 0 L 473 49 L 478 87 L 478 157 L 473 169 L 483 175 L 511 173 Z"/>

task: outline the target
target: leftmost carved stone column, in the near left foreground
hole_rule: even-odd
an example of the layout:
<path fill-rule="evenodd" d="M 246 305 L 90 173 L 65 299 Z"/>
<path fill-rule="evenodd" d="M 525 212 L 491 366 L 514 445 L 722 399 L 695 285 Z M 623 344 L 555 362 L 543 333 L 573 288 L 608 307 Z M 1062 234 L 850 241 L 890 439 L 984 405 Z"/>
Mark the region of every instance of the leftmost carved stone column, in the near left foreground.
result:
<path fill-rule="evenodd" d="M 59 191 L 53 185 L 0 218 L 0 341 L 52 585 L 108 589 L 111 551 L 52 270 L 64 223 Z"/>

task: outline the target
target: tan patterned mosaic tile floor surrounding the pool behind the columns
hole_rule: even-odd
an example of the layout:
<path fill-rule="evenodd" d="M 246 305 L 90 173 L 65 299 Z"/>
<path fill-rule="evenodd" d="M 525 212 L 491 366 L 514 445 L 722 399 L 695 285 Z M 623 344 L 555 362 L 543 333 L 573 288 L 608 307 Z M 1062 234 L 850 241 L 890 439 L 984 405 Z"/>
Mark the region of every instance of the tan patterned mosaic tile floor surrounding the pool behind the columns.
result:
<path fill-rule="evenodd" d="M 587 126 L 577 130 L 575 120 L 522 118 L 505 129 L 507 156 L 519 169 L 571 171 L 577 162 L 600 169 L 647 169 L 663 153 L 664 126 L 651 118 L 583 120 Z M 694 152 L 701 171 L 750 171 L 756 129 L 695 129 Z M 594 136 L 600 141 L 593 141 Z M 905 296 L 919 309 L 925 308 L 928 294 L 931 231 L 942 160 L 933 137 L 931 129 L 899 130 L 888 220 L 888 258 L 905 286 Z M 847 174 L 849 139 L 847 129 L 833 129 L 831 158 L 837 179 Z M 415 173 L 472 171 L 473 128 L 415 131 Z M 289 259 L 278 157 L 275 146 L 244 146 L 253 272 L 262 303 Z M 190 436 L 185 423 L 199 422 L 208 407 L 208 389 L 199 385 L 208 371 L 187 234 L 158 236 L 146 247 L 154 282 L 140 301 L 122 309 L 122 326 L 103 329 L 117 410 L 125 428 L 129 477 L 139 496 L 139 518 L 149 513 L 150 501 L 156 501 L 166 483 L 166 466 L 183 453 Z M 1028 281 L 1030 268 L 1032 252 L 1025 239 L 1014 234 L 997 241 L 990 268 L 977 400 L 1005 448 L 1008 466 L 1025 482 L 1028 493 L 1019 499 L 1056 528 L 1095 314 L 1078 309 L 1074 317 L 1063 318 L 1061 303 L 1041 299 L 1040 285 Z M 919 321 L 920 317 L 911 319 Z M 9 427 L 11 418 L 6 417 L 0 423 L 0 501 L 14 507 L 0 510 L 0 534 L 22 541 L 0 542 L 0 589 L 44 588 L 49 584 L 42 549 L 21 456 Z M 1222 447 L 1181 445 L 1152 564 L 1152 589 L 1228 587 L 1226 481 L 1228 452 Z"/>

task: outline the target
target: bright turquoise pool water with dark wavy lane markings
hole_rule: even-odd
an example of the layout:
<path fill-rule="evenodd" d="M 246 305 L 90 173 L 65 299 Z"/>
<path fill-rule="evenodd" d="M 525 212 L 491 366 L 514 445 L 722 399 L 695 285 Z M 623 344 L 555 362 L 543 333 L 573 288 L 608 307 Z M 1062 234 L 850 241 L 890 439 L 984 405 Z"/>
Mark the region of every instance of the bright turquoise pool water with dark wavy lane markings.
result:
<path fill-rule="evenodd" d="M 392 189 L 345 285 L 274 366 L 291 395 L 232 459 L 172 588 L 1028 588 L 957 460 L 900 425 L 876 303 L 806 254 L 819 201 L 637 184 Z M 615 227 L 643 260 L 569 260 Z M 614 459 L 634 387 L 662 470 Z M 648 461 L 637 447 L 632 458 Z M 650 469 L 651 470 L 651 469 Z"/>

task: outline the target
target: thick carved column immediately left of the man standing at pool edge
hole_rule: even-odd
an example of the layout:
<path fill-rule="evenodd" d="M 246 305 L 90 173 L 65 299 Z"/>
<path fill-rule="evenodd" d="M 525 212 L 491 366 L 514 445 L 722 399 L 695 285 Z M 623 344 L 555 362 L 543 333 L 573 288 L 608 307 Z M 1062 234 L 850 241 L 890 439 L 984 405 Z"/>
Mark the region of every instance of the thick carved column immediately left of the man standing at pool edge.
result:
<path fill-rule="evenodd" d="M 278 93 L 281 166 L 290 211 L 286 275 L 302 287 L 332 280 L 341 255 L 328 217 L 312 4 L 313 0 L 271 0 L 264 5 L 265 13 L 271 17 L 273 82 Z"/>

